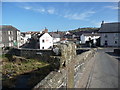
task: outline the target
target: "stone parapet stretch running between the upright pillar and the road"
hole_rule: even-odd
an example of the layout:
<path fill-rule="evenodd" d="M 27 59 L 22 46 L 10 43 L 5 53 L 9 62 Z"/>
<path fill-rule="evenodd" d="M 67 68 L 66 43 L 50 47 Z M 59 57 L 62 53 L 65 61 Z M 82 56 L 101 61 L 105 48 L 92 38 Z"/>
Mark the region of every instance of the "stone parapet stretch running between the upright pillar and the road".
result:
<path fill-rule="evenodd" d="M 81 55 L 78 55 L 74 68 L 74 87 L 76 87 L 77 83 L 80 82 L 81 75 L 85 69 L 88 61 L 94 56 L 96 49 L 91 49 L 90 51 L 84 52 Z"/>

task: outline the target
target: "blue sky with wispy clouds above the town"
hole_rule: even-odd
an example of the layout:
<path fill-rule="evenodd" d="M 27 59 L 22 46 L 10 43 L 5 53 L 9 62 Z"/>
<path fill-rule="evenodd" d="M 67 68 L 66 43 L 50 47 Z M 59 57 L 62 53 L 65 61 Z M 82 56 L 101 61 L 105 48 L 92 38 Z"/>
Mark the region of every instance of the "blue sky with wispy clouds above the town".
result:
<path fill-rule="evenodd" d="M 117 2 L 3 2 L 2 24 L 20 31 L 67 31 L 118 21 Z"/>

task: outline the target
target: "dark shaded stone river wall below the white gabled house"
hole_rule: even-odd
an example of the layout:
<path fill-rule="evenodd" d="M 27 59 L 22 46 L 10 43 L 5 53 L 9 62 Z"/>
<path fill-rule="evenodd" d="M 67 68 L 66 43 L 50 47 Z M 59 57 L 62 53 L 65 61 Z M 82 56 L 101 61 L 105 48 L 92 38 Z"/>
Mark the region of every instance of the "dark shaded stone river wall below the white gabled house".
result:
<path fill-rule="evenodd" d="M 21 57 L 25 57 L 28 59 L 33 58 L 33 59 L 38 59 L 41 61 L 51 61 L 52 58 L 50 58 L 50 56 L 52 56 L 54 52 L 52 50 L 13 48 L 7 54 L 21 56 Z"/>

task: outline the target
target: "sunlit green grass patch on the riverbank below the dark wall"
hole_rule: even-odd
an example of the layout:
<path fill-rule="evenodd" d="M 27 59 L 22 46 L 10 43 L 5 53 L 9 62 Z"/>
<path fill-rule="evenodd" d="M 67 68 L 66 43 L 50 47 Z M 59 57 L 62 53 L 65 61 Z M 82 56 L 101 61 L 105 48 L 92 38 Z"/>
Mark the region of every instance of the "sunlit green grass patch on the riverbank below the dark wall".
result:
<path fill-rule="evenodd" d="M 34 59 L 28 59 L 26 62 L 17 63 L 8 61 L 5 62 L 5 64 L 3 65 L 3 73 L 4 74 L 14 73 L 12 76 L 15 76 L 36 70 L 41 67 L 45 67 L 47 65 L 49 64 Z"/>

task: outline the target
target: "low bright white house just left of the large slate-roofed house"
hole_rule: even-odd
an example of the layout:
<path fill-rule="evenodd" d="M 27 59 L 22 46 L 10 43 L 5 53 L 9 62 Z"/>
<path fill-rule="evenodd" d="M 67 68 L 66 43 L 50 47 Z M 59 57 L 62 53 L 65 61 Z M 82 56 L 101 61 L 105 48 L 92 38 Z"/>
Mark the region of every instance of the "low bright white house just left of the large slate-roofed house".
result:
<path fill-rule="evenodd" d="M 80 43 L 85 44 L 86 41 L 89 41 L 91 39 L 93 40 L 93 43 L 96 44 L 98 38 L 100 38 L 100 35 L 97 33 L 83 33 L 80 36 Z"/>

